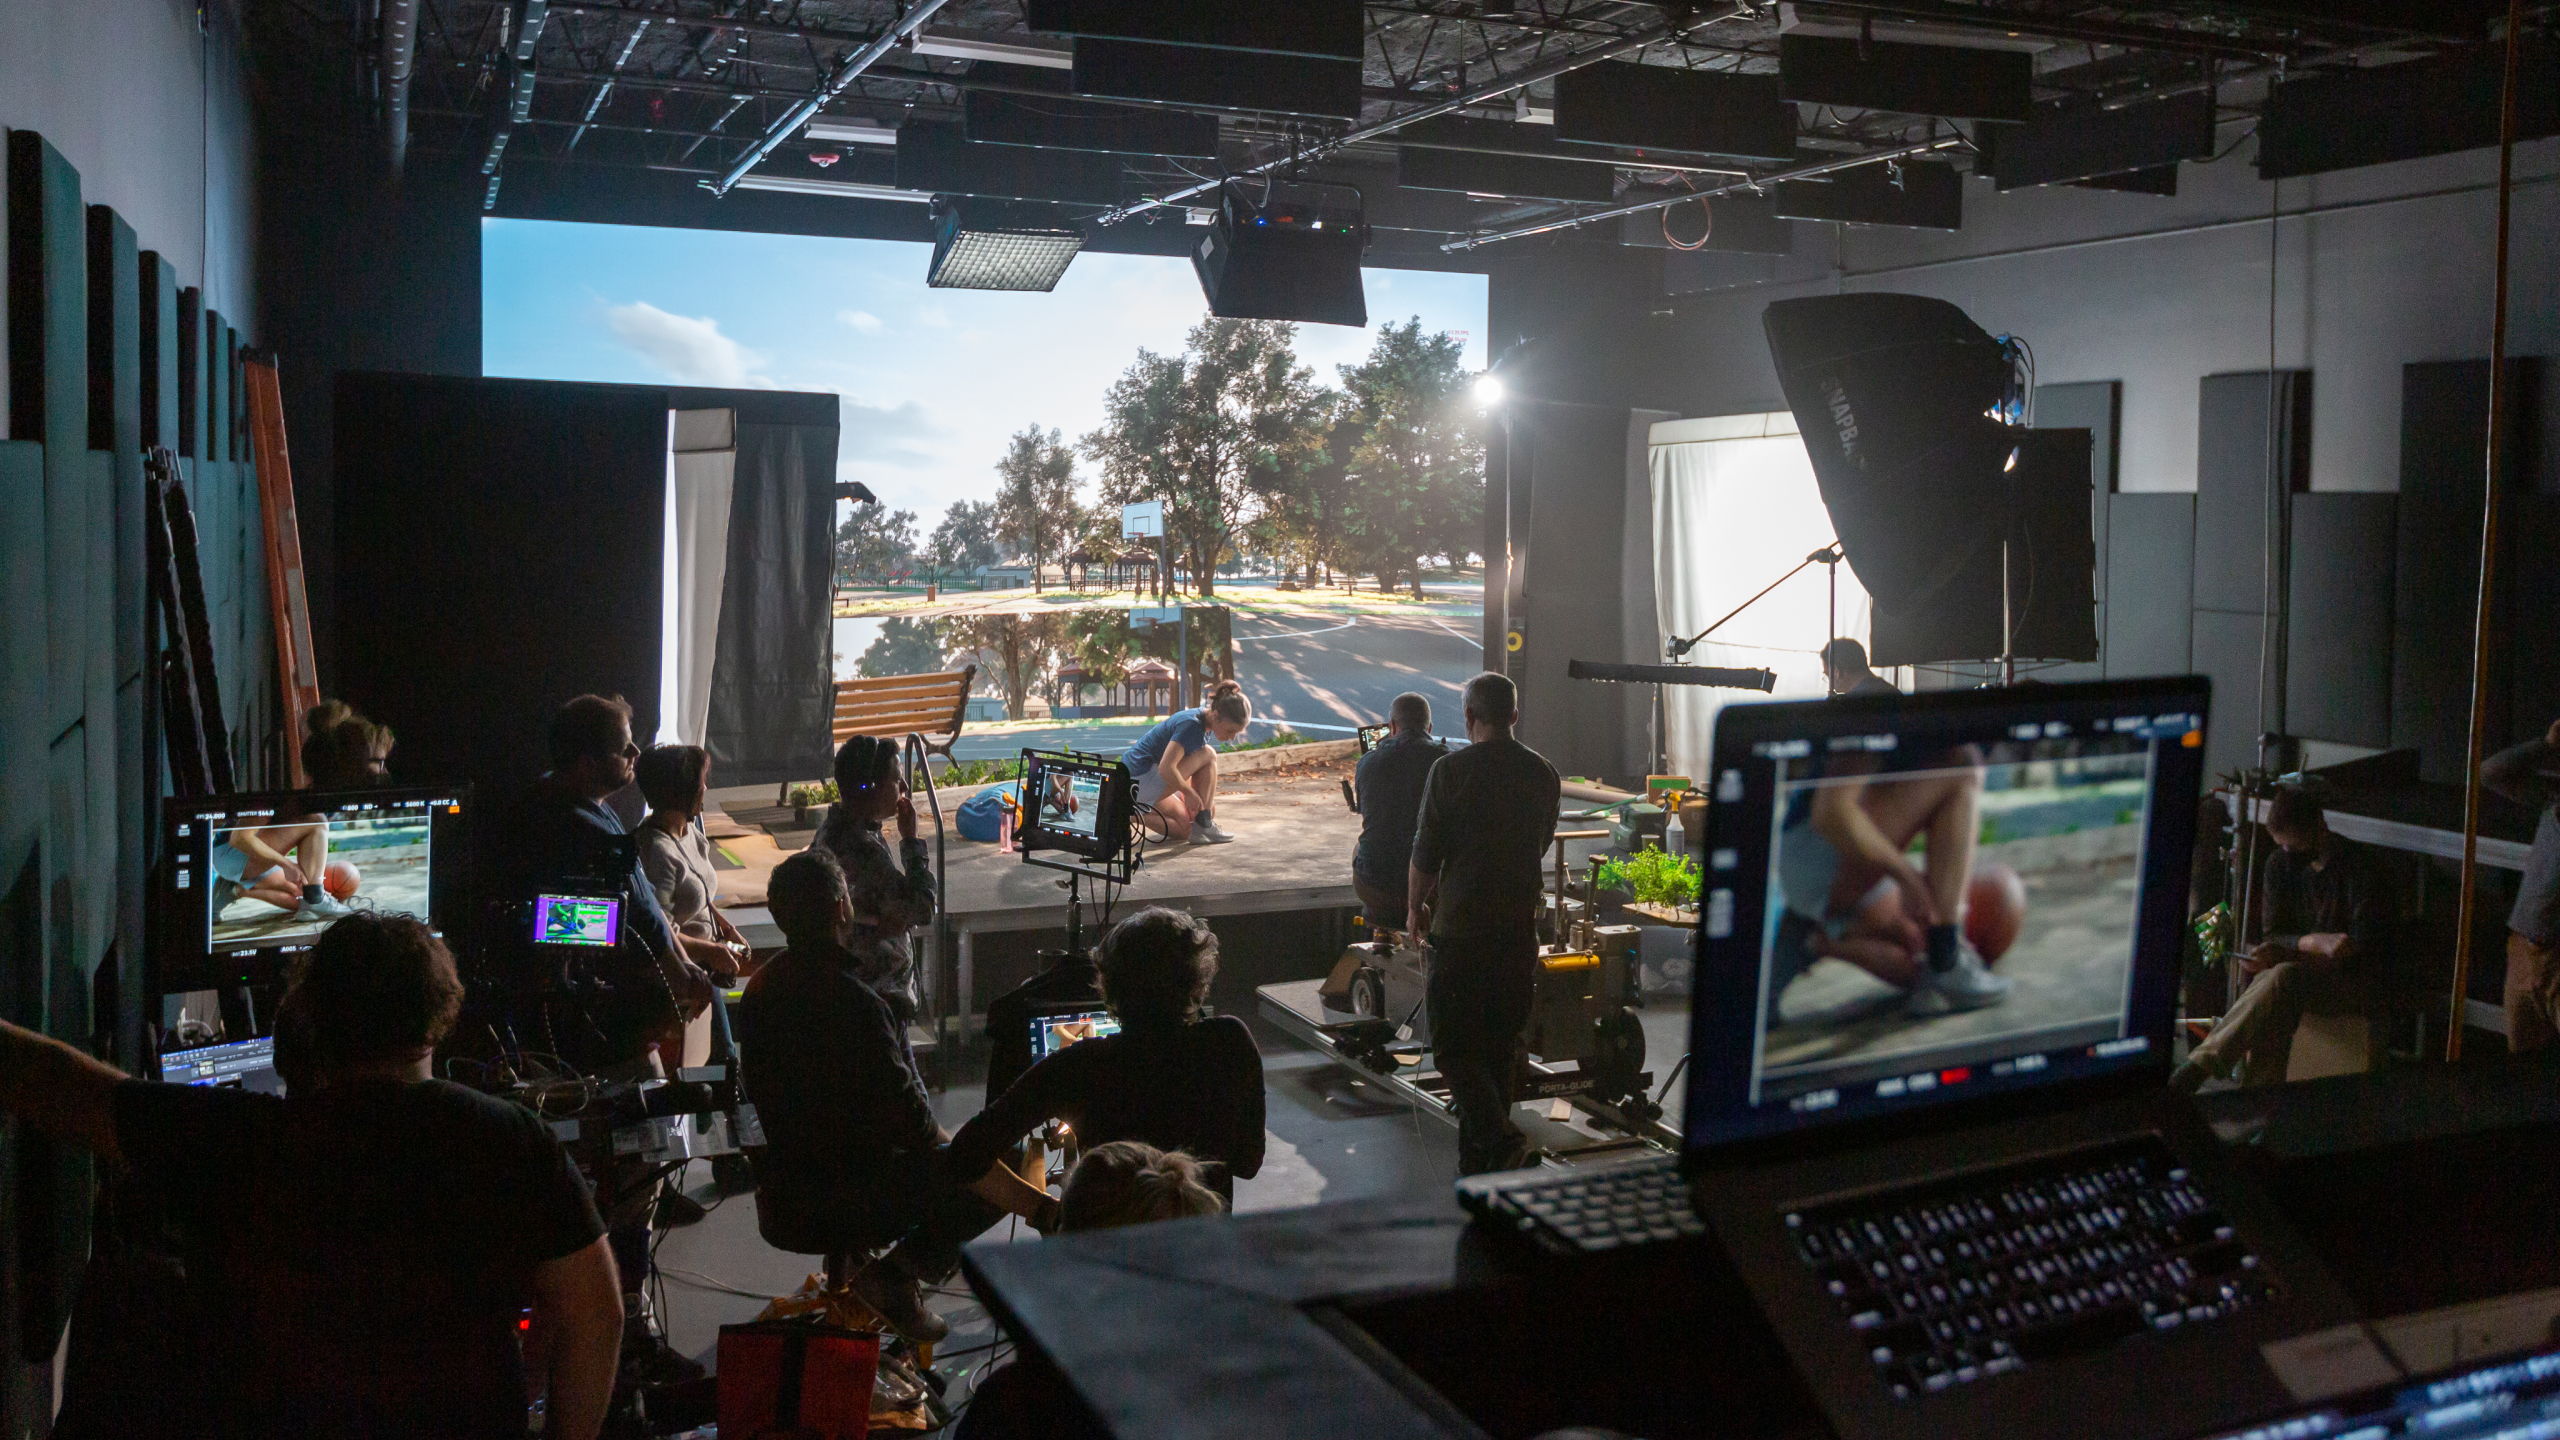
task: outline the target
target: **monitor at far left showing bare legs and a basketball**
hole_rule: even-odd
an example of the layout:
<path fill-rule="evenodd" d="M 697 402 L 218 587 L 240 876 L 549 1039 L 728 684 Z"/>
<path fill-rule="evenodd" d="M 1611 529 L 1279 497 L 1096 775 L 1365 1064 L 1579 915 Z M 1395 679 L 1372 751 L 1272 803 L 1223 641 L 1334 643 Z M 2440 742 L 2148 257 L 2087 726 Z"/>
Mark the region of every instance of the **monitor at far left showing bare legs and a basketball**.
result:
<path fill-rule="evenodd" d="M 451 784 L 169 799 L 154 992 L 284 979 L 356 912 L 453 930 L 468 904 L 468 805 Z"/>

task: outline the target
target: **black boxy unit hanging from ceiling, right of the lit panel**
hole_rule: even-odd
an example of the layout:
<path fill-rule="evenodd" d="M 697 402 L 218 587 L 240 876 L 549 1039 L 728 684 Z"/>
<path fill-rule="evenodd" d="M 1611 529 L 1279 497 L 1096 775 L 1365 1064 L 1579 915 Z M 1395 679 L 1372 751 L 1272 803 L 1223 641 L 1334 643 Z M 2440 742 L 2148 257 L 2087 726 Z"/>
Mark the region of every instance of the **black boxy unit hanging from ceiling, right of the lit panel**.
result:
<path fill-rule="evenodd" d="M 1349 192 L 1349 202 L 1321 192 Z M 1190 269 L 1221 320 L 1367 325 L 1367 249 L 1370 220 L 1349 184 L 1229 182 L 1208 233 L 1190 246 Z"/>

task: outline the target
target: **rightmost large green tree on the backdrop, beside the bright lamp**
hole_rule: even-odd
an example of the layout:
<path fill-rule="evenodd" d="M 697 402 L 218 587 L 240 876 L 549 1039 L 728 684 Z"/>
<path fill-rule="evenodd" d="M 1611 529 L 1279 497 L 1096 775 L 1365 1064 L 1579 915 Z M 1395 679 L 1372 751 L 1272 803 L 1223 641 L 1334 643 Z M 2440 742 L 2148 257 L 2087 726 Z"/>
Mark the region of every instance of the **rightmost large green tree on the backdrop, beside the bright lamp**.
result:
<path fill-rule="evenodd" d="M 1467 556 L 1485 525 L 1485 436 L 1464 402 L 1457 336 L 1423 333 L 1416 315 L 1380 325 L 1370 359 L 1341 366 L 1344 415 L 1359 441 L 1344 489 L 1349 559 L 1423 597 L 1423 556 Z"/>

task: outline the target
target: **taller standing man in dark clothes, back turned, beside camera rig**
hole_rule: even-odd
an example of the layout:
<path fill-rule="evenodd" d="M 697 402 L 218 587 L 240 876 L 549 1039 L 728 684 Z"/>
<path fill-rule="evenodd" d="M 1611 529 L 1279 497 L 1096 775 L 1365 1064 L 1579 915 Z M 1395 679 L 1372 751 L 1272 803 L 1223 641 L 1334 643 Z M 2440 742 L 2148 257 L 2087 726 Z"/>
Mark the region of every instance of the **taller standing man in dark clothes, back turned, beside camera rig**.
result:
<path fill-rule="evenodd" d="M 1539 971 L 1539 861 L 1556 838 L 1564 787 L 1546 756 L 1510 738 L 1518 720 L 1510 676 L 1467 682 L 1469 743 L 1431 766 L 1405 874 L 1405 922 L 1431 938 L 1431 1058 L 1449 1081 L 1467 1176 L 1528 1156 L 1510 1086 Z"/>

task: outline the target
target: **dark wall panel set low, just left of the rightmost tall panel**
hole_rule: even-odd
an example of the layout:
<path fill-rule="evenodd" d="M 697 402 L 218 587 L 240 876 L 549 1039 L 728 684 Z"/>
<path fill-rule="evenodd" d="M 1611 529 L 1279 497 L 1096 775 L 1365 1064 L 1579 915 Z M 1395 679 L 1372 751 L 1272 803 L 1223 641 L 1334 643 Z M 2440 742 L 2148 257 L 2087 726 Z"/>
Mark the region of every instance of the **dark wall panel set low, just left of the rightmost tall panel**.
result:
<path fill-rule="evenodd" d="M 2296 495 L 2286 612 L 2289 735 L 2391 746 L 2399 495 Z"/>

